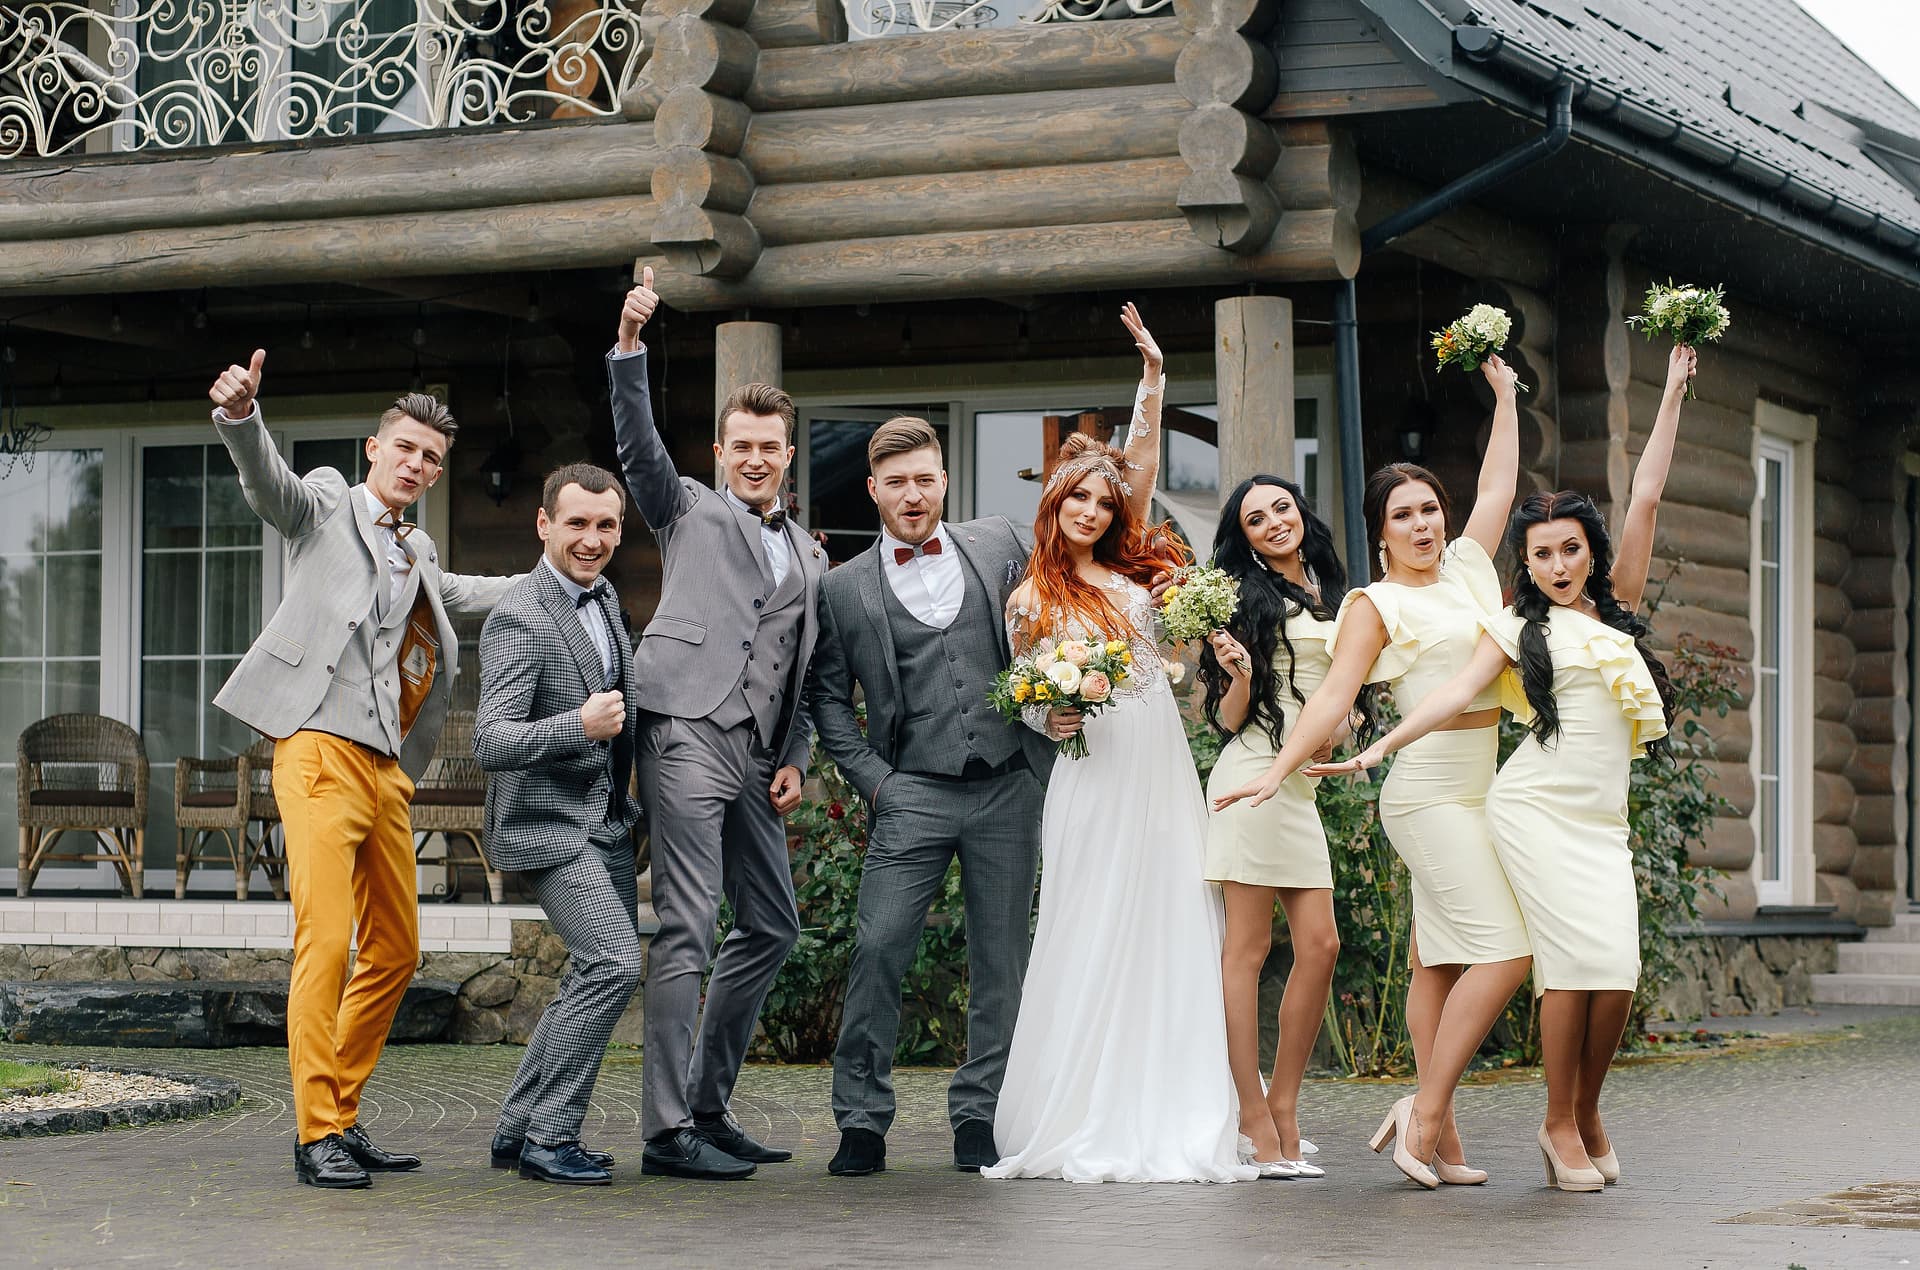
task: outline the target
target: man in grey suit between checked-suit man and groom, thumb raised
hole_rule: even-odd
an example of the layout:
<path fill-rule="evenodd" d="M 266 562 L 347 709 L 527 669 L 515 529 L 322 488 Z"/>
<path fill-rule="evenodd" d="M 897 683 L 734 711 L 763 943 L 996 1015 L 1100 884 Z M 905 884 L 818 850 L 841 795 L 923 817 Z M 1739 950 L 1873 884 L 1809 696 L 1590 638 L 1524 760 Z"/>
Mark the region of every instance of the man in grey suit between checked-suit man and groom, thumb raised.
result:
<path fill-rule="evenodd" d="M 662 563 L 660 603 L 634 655 L 660 918 L 647 949 L 641 1170 L 743 1178 L 791 1157 L 749 1137 L 728 1101 L 799 938 L 783 817 L 801 799 L 812 745 L 803 692 L 826 553 L 781 511 L 795 415 L 778 388 L 745 384 L 722 403 L 720 490 L 674 469 L 653 427 L 639 344 L 657 304 L 649 269 L 607 357 L 620 465 Z M 712 959 L 701 1013 L 722 891 L 733 930 Z"/>

